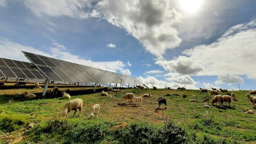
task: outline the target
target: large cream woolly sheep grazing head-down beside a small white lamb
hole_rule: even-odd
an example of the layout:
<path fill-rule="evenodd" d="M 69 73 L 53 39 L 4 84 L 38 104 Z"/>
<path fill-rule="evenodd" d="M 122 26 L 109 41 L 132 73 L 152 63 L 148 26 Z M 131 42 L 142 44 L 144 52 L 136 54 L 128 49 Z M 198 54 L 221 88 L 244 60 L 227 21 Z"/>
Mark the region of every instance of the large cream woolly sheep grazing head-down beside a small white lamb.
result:
<path fill-rule="evenodd" d="M 83 100 L 80 98 L 76 98 L 74 100 L 69 100 L 66 102 L 66 104 L 63 107 L 62 116 L 68 116 L 68 113 L 71 110 L 75 110 L 73 116 L 76 114 L 77 109 L 80 111 L 80 116 L 82 114 L 82 108 L 83 108 Z"/>

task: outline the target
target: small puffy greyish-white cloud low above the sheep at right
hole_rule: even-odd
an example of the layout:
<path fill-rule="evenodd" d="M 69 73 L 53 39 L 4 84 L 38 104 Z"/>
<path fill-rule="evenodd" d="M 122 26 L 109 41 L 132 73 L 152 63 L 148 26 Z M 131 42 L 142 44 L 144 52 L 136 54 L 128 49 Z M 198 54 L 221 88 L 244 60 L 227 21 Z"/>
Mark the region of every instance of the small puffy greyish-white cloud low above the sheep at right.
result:
<path fill-rule="evenodd" d="M 243 83 L 244 79 L 239 76 L 234 76 L 231 74 L 223 74 L 218 76 L 218 79 L 214 82 L 215 84 L 233 84 L 233 83 Z"/>

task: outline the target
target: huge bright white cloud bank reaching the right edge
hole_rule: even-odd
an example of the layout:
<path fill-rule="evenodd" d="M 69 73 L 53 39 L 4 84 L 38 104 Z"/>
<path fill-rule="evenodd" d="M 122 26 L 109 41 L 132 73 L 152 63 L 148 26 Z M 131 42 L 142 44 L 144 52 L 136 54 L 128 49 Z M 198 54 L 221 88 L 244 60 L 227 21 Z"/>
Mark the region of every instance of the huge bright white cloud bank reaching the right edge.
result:
<path fill-rule="evenodd" d="M 158 60 L 156 64 L 163 66 L 169 72 L 180 74 L 199 76 L 230 74 L 256 79 L 255 40 L 256 20 L 252 20 L 247 24 L 230 28 L 210 45 L 184 50 L 182 53 L 186 56 L 179 56 L 173 60 Z"/>

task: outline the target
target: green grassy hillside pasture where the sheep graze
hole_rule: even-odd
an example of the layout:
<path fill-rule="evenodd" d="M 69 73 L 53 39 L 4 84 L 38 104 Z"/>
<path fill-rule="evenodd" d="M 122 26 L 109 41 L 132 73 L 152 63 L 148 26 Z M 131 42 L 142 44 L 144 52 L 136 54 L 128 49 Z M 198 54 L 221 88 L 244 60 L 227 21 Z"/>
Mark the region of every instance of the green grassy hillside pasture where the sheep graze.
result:
<path fill-rule="evenodd" d="M 153 97 L 145 98 L 142 106 L 118 106 L 118 103 L 125 102 L 121 100 L 121 97 L 126 92 L 133 92 L 135 96 L 152 93 Z M 232 91 L 228 93 L 232 93 Z M 171 124 L 177 124 L 178 127 L 185 130 L 181 138 L 185 139 L 185 143 L 255 143 L 256 115 L 245 114 L 244 108 L 249 107 L 254 111 L 256 109 L 252 108 L 252 103 L 245 96 L 248 91 L 236 91 L 235 93 L 238 101 L 232 101 L 231 107 L 226 109 L 219 108 L 218 104 L 210 106 L 210 108 L 203 108 L 201 100 L 209 95 L 200 95 L 199 90 L 134 91 L 134 89 L 125 89 L 121 91 L 120 95 L 113 92 L 109 94 L 114 95 L 115 98 L 99 96 L 99 93 L 86 94 L 71 97 L 71 99 L 81 98 L 83 100 L 81 117 L 78 117 L 78 114 L 72 117 L 72 111 L 67 118 L 60 118 L 62 107 L 68 100 L 62 98 L 28 100 L 19 97 L 19 94 L 1 95 L 0 91 L 0 101 L 2 102 L 0 104 L 0 133 L 18 134 L 27 124 L 34 122 L 35 127 L 23 134 L 26 138 L 23 143 L 83 143 L 81 140 L 87 143 L 102 144 L 129 143 L 125 142 L 123 138 L 131 135 L 138 136 L 140 143 L 149 143 L 161 137 L 157 134 L 167 126 L 163 123 L 167 116 Z M 194 99 L 192 95 L 198 96 L 197 102 L 188 102 L 189 99 Z M 159 96 L 166 98 L 166 110 L 155 111 Z M 14 99 L 14 101 L 8 103 L 10 99 Z M 99 117 L 95 120 L 88 120 L 89 109 L 94 104 L 100 104 Z M 161 107 L 164 108 L 162 105 Z M 29 114 L 32 112 L 35 114 L 30 116 Z M 108 132 L 108 128 L 122 122 L 128 122 L 129 127 L 117 133 Z M 178 127 L 177 129 L 179 129 Z M 164 130 L 172 131 L 175 128 L 174 125 Z M 182 130 L 178 130 L 178 132 L 182 132 Z M 93 135 L 97 132 L 101 136 Z M 98 137 L 100 138 L 97 139 Z M 178 137 L 175 135 L 173 139 L 175 138 Z M 137 143 L 138 141 L 132 142 Z M 164 143 L 164 140 L 158 142 Z"/>

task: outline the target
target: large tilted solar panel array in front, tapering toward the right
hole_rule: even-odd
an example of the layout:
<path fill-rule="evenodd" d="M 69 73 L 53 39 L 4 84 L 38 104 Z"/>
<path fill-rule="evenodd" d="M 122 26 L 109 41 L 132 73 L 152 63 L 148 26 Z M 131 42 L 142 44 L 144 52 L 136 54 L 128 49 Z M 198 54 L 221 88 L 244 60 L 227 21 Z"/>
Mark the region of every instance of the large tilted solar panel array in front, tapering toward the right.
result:
<path fill-rule="evenodd" d="M 22 51 L 23 52 L 23 51 Z M 97 83 L 140 83 L 132 76 L 118 74 L 107 70 L 92 68 L 64 60 L 58 60 L 47 56 L 23 52 L 25 56 L 54 81 L 64 82 L 97 82 Z"/>

